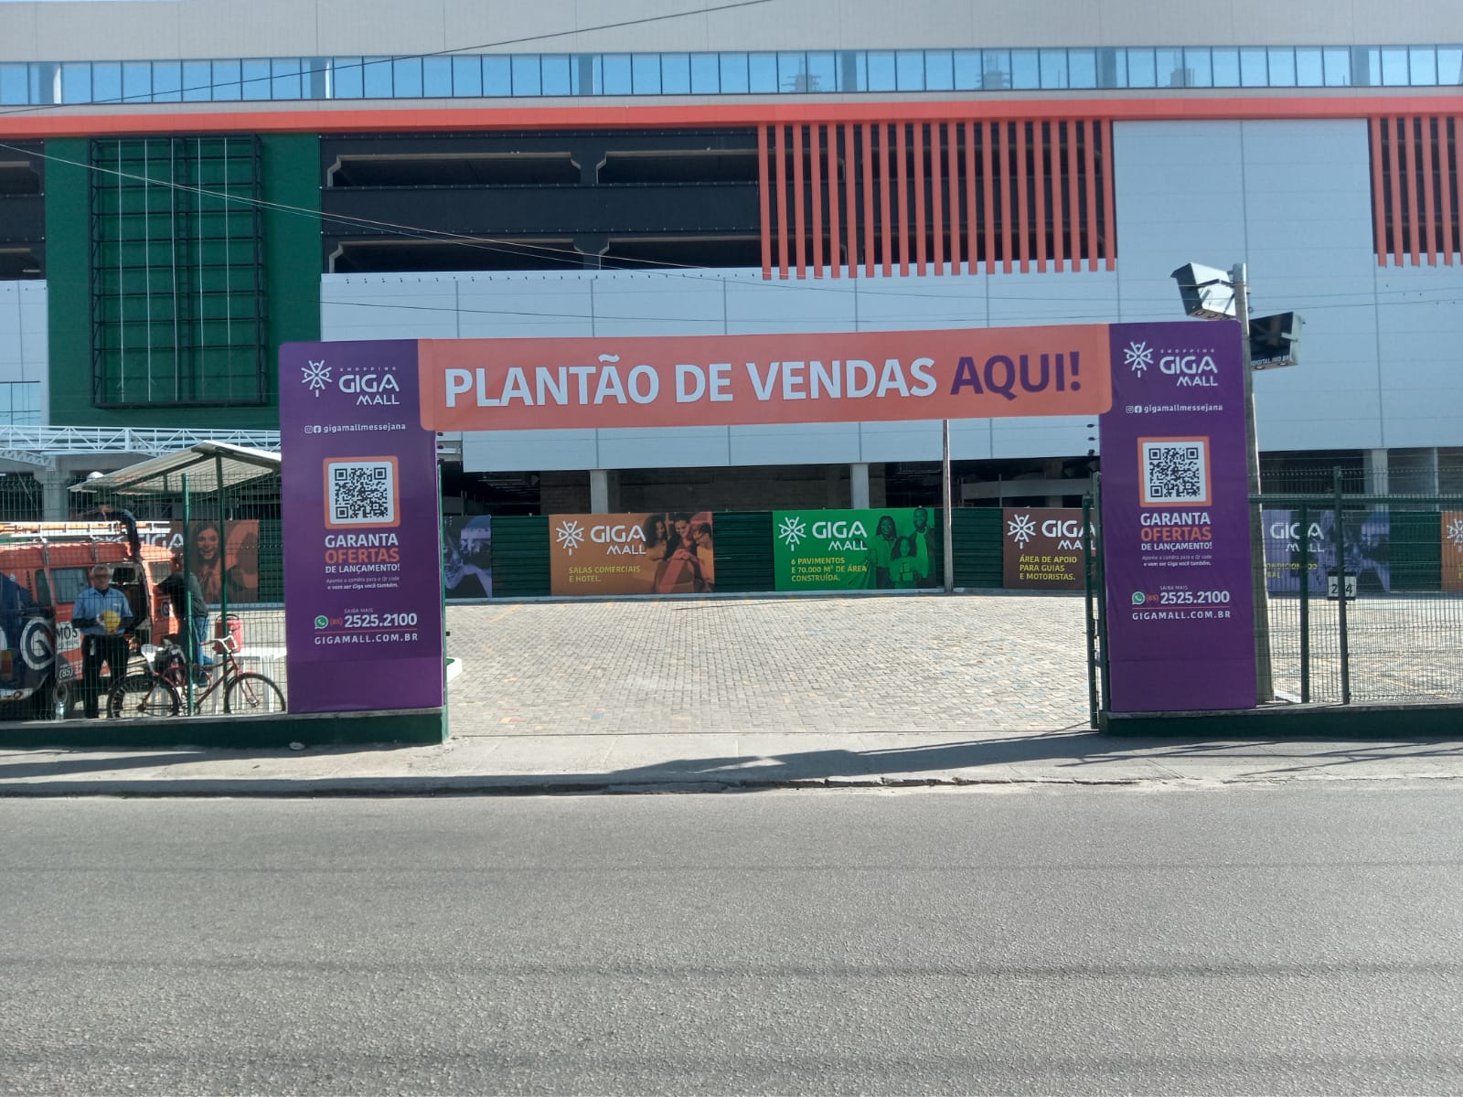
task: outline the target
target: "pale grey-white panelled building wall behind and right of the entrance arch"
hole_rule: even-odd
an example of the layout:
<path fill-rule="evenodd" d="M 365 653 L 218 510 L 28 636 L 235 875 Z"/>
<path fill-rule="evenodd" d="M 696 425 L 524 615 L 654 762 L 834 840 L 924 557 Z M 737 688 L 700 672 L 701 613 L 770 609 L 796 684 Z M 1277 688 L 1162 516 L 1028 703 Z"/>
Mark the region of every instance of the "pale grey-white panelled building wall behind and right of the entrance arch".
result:
<path fill-rule="evenodd" d="M 879 331 L 1179 319 L 1170 272 L 1245 262 L 1252 314 L 1305 316 L 1255 379 L 1264 451 L 1463 445 L 1463 263 L 1380 268 L 1364 121 L 1118 123 L 1118 269 L 764 281 L 758 271 L 326 275 L 322 338 Z M 1203 320 L 1192 320 L 1203 323 Z M 1078 418 L 952 424 L 957 459 L 1100 449 Z M 483 431 L 496 471 L 932 461 L 939 423 Z"/>

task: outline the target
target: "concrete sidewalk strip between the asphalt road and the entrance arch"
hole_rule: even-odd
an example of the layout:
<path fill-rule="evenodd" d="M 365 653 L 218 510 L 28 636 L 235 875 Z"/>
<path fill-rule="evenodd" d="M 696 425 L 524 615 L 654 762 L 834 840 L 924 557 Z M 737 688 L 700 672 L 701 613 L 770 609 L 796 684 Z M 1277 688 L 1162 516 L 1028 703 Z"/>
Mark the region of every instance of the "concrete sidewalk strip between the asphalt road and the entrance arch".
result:
<path fill-rule="evenodd" d="M 0 796 L 427 796 L 1463 780 L 1463 740 L 1173 742 L 1088 731 L 461 736 L 309 750 L 0 750 Z M 1463 787 L 1463 785 L 1460 785 Z"/>

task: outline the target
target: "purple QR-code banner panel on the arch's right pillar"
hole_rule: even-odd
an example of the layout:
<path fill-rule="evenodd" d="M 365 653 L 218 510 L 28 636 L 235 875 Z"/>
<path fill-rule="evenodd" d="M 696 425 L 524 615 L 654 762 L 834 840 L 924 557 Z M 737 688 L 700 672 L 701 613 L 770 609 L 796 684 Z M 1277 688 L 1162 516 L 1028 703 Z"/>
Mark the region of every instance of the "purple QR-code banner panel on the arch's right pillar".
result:
<path fill-rule="evenodd" d="M 1109 709 L 1255 706 L 1239 325 L 1115 323 L 1102 429 Z"/>

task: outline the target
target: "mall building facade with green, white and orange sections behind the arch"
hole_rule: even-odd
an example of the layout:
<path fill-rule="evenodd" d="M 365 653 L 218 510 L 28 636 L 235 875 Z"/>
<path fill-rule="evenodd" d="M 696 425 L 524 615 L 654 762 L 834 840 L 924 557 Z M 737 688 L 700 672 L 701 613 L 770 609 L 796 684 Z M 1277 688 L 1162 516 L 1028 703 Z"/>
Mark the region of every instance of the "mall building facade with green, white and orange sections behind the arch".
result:
<path fill-rule="evenodd" d="M 1197 16 L 0 3 L 0 426 L 277 429 L 287 341 L 1167 320 L 1172 271 L 1245 263 L 1305 319 L 1255 379 L 1267 477 L 1463 490 L 1463 7 Z M 963 502 L 1075 502 L 1102 440 L 951 449 Z M 465 510 L 928 505 L 941 424 L 443 452 Z"/>

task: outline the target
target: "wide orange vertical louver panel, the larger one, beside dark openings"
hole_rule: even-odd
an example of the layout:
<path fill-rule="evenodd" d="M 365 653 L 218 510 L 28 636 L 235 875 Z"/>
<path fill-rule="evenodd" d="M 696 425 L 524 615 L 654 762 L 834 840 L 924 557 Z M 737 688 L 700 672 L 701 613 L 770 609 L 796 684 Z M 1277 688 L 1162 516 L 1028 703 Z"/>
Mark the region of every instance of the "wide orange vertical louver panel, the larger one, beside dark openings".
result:
<path fill-rule="evenodd" d="M 772 123 L 758 157 L 764 278 L 1116 266 L 1107 118 Z"/>

